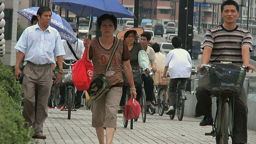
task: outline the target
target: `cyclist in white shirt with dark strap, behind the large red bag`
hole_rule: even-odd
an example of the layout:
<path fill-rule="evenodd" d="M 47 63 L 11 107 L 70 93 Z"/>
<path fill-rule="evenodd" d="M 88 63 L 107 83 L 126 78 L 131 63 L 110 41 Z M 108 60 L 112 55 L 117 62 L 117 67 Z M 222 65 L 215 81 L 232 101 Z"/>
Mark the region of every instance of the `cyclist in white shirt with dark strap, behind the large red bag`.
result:
<path fill-rule="evenodd" d="M 78 25 L 77 24 L 70 24 L 70 26 L 72 27 L 73 31 L 74 31 L 74 35 L 77 37 L 78 36 Z M 69 64 L 70 62 L 74 61 L 74 60 L 79 60 L 82 58 L 83 54 L 84 54 L 84 42 L 82 40 L 77 39 L 78 41 L 75 43 L 71 43 L 68 42 L 66 40 L 62 40 L 62 44 L 65 50 L 66 55 L 63 56 L 63 60 L 64 62 L 66 62 L 67 64 Z M 70 50 L 70 48 L 72 48 L 72 50 L 74 51 L 74 54 L 72 53 L 72 51 Z M 65 64 L 63 64 L 63 68 L 64 69 L 68 69 L 69 66 L 66 66 Z M 62 106 L 64 104 L 64 98 L 65 98 L 65 86 L 66 84 L 61 84 L 60 85 L 60 107 L 64 108 L 64 106 Z M 75 108 L 80 108 L 83 107 L 84 105 L 81 104 L 82 102 L 82 94 L 84 91 L 81 90 L 77 90 L 76 91 L 76 98 L 75 98 Z"/>

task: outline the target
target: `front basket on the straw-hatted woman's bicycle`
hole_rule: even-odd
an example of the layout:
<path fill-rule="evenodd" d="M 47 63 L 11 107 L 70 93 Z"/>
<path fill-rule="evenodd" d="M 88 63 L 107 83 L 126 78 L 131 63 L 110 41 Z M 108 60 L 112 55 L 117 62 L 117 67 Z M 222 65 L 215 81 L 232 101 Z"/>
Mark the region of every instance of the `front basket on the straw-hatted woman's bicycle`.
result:
<path fill-rule="evenodd" d="M 123 74 L 123 80 L 124 80 L 123 84 L 126 84 L 126 82 L 128 82 L 128 80 L 127 80 L 127 78 L 126 78 L 126 76 L 124 74 L 124 71 L 122 71 L 122 74 Z M 133 75 L 134 84 L 135 85 L 141 84 L 142 67 L 140 67 L 140 66 L 132 66 L 132 75 Z"/>

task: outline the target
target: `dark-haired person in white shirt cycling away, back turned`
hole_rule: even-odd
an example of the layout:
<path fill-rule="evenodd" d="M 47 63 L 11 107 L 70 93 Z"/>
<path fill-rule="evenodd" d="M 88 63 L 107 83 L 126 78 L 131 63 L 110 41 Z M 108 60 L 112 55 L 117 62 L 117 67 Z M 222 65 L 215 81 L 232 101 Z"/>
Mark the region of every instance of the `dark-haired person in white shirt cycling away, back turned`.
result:
<path fill-rule="evenodd" d="M 171 50 L 165 61 L 163 78 L 166 78 L 166 72 L 169 68 L 170 73 L 170 83 L 168 90 L 168 103 L 169 109 L 166 114 L 174 114 L 174 105 L 176 104 L 176 90 L 178 84 L 178 78 L 190 78 L 192 60 L 188 51 L 181 48 L 182 40 L 180 37 L 176 36 L 172 38 L 172 46 L 174 50 Z M 186 82 L 186 81 L 185 81 Z"/>

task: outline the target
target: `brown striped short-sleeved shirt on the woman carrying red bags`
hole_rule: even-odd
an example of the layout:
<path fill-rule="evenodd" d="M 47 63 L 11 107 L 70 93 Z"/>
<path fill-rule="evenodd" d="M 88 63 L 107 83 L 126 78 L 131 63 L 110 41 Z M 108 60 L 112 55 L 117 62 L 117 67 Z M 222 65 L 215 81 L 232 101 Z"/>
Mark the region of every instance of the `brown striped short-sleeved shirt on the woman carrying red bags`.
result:
<path fill-rule="evenodd" d="M 117 38 L 114 39 L 113 46 L 106 50 L 100 45 L 98 39 L 94 39 L 91 41 L 91 47 L 89 55 L 92 58 L 93 64 L 93 75 L 92 78 L 96 78 L 99 74 L 104 74 L 106 67 L 108 65 L 108 61 L 110 56 L 116 46 Z M 128 48 L 127 48 L 128 50 Z M 123 61 L 130 59 L 130 54 L 128 53 L 128 57 L 123 57 L 124 52 L 124 41 L 120 40 L 116 52 L 112 58 L 112 62 L 110 63 L 110 67 L 108 68 L 107 73 L 105 74 L 106 79 L 113 86 L 120 86 L 122 87 L 123 77 L 122 77 L 122 64 Z"/>

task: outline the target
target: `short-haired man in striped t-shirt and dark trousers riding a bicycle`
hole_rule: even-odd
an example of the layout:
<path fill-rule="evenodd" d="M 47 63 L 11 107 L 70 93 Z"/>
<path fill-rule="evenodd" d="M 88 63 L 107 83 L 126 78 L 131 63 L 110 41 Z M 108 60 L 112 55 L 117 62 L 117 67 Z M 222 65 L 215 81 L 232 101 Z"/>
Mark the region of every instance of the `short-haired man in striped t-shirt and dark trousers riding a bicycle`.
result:
<path fill-rule="evenodd" d="M 248 30 L 236 25 L 239 16 L 239 6 L 234 0 L 226 0 L 221 5 L 224 23 L 210 28 L 205 35 L 202 64 L 232 63 L 238 66 L 254 66 L 249 64 L 252 48 L 252 36 Z M 198 72 L 204 72 L 198 66 Z M 248 72 L 249 70 L 247 70 Z M 196 88 L 196 117 L 204 116 L 200 126 L 212 126 L 212 99 L 210 92 L 210 77 L 208 74 L 200 78 Z M 247 143 L 247 97 L 243 88 L 240 97 L 234 98 L 234 128 L 232 143 Z"/>

